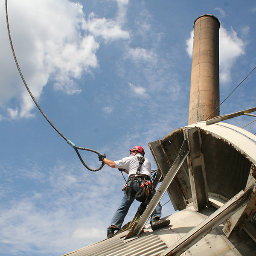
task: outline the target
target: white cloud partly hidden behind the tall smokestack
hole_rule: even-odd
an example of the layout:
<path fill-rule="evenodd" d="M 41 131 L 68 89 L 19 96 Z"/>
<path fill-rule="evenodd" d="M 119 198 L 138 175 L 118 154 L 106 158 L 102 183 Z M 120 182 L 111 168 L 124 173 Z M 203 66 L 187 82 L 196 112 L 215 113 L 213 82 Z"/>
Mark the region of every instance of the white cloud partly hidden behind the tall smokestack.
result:
<path fill-rule="evenodd" d="M 248 30 L 248 28 L 246 29 Z M 191 32 L 190 38 L 186 40 L 186 51 L 192 57 L 194 31 Z M 220 37 L 220 81 L 228 83 L 231 80 L 231 69 L 236 59 L 245 53 L 245 43 L 237 36 L 236 31 L 231 28 L 229 31 L 224 27 L 219 30 Z"/>

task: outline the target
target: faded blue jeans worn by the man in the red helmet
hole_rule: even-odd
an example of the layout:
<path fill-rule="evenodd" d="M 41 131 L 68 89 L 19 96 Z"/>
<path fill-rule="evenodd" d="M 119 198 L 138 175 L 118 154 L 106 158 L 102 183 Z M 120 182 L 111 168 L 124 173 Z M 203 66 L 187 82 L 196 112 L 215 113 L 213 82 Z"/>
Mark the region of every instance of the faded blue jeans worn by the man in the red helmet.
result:
<path fill-rule="evenodd" d="M 130 182 L 128 182 L 127 187 L 130 185 L 129 184 Z M 138 192 L 140 190 L 140 185 L 137 180 L 134 180 L 133 189 L 136 192 Z M 147 204 L 152 199 L 153 195 L 154 195 L 154 192 L 148 196 L 148 200 L 146 201 Z M 113 215 L 113 218 L 111 220 L 111 225 L 114 225 L 118 228 L 122 227 L 122 224 L 125 220 L 125 216 L 127 215 L 128 210 L 135 199 L 135 197 L 131 196 L 130 200 L 128 201 L 127 198 L 128 198 L 128 196 L 126 195 L 126 193 L 124 193 L 122 203 L 119 206 L 119 208 L 116 210 L 115 214 Z M 151 219 L 156 216 L 158 216 L 160 218 L 161 215 L 162 215 L 162 207 L 161 207 L 161 204 L 159 203 L 159 204 L 157 204 L 156 209 L 154 209 L 154 212 L 151 215 Z"/>

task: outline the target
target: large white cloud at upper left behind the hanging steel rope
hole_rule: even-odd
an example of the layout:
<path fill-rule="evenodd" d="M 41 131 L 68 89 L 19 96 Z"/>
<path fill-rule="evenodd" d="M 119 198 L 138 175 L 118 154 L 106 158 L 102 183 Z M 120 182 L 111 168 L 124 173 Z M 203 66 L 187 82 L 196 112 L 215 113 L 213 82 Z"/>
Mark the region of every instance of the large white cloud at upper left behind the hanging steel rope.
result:
<path fill-rule="evenodd" d="M 4 17 L 4 8 L 1 10 Z M 84 22 L 81 4 L 69 0 L 13 0 L 9 2 L 8 12 L 17 60 L 35 98 L 40 98 L 49 79 L 55 82 L 56 90 L 79 93 L 81 88 L 75 79 L 98 67 L 95 53 L 99 48 L 92 35 L 81 36 L 79 32 L 79 24 Z M 17 108 L 9 108 L 10 117 L 31 117 L 35 105 L 14 65 L 3 18 L 0 32 L 3 35 L 0 58 L 5 63 L 0 70 L 0 104 L 4 107 L 17 97 L 20 107 L 18 112 Z"/>

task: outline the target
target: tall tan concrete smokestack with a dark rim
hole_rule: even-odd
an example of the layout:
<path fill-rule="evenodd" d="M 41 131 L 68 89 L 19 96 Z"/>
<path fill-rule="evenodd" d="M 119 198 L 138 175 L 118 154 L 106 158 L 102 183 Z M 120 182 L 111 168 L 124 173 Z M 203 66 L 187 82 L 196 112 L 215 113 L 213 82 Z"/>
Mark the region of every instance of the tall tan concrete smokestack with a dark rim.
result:
<path fill-rule="evenodd" d="M 219 28 L 213 15 L 199 16 L 194 23 L 189 122 L 219 116 Z"/>

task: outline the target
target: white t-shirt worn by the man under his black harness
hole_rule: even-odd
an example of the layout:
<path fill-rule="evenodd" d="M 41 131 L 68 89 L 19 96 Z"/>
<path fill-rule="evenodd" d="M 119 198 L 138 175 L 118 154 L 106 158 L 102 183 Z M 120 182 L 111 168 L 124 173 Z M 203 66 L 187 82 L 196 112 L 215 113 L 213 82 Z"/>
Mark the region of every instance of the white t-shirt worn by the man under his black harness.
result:
<path fill-rule="evenodd" d="M 125 169 L 128 171 L 129 176 L 131 174 L 136 174 L 139 160 L 137 157 L 142 157 L 142 154 L 136 154 L 135 156 L 124 157 L 121 160 L 114 161 L 116 168 Z M 145 158 L 143 165 L 140 168 L 140 174 L 145 174 L 151 177 L 151 163 L 148 158 Z"/>

